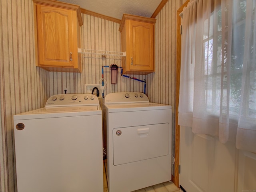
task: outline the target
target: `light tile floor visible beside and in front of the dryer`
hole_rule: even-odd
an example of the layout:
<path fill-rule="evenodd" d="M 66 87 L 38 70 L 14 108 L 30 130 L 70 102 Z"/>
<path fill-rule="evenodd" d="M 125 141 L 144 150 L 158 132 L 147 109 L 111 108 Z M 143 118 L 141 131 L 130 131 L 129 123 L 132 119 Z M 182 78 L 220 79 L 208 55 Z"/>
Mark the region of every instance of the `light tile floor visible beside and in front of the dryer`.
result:
<path fill-rule="evenodd" d="M 104 172 L 104 192 L 108 192 L 108 182 L 107 182 L 107 176 L 106 176 L 106 172 L 107 172 L 107 162 L 106 160 L 104 160 L 104 165 L 103 165 L 103 172 Z M 154 186 L 150 186 L 144 189 L 140 189 L 140 190 L 136 190 L 133 192 L 180 192 L 181 190 L 179 188 L 177 188 L 173 182 L 164 182 L 164 183 L 160 183 Z M 120 191 L 121 192 L 121 191 Z"/>

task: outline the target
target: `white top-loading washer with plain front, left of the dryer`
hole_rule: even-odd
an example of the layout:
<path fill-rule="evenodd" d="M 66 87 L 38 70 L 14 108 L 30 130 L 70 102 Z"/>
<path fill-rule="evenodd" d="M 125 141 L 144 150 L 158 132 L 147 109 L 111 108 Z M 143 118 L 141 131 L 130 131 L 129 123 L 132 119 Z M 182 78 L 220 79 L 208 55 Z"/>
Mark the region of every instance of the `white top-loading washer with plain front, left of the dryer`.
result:
<path fill-rule="evenodd" d="M 14 115 L 18 192 L 103 192 L 102 110 L 91 94 L 51 96 Z"/>

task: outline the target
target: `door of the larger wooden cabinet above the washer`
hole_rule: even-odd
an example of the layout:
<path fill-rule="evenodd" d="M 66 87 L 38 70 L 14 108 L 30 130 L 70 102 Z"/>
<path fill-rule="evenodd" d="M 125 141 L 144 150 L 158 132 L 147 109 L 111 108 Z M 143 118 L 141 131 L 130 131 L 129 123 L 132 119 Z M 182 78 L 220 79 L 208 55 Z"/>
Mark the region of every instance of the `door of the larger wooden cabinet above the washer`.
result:
<path fill-rule="evenodd" d="M 37 8 L 37 38 L 38 38 L 38 65 L 74 67 L 73 19 L 76 12 L 62 8 L 38 4 Z"/>

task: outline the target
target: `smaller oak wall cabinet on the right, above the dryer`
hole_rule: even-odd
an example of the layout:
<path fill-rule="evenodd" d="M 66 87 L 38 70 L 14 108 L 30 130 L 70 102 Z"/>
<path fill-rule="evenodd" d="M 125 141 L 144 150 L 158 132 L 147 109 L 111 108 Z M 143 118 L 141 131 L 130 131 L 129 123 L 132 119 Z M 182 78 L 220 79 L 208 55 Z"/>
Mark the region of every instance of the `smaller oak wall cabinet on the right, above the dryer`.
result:
<path fill-rule="evenodd" d="M 156 19 L 123 14 L 121 32 L 124 74 L 149 74 L 155 72 Z"/>

